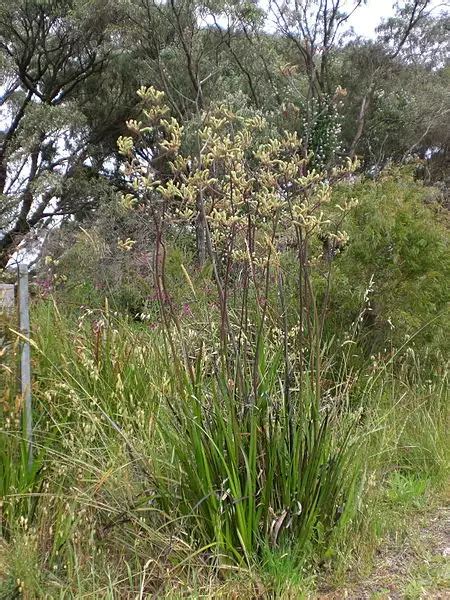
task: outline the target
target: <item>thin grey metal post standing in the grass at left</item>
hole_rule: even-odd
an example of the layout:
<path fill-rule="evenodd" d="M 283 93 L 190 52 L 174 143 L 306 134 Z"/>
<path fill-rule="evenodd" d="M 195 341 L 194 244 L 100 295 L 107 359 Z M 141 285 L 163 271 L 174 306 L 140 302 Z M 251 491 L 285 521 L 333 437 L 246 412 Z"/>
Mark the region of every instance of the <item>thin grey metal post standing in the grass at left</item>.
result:
<path fill-rule="evenodd" d="M 30 312 L 28 298 L 28 267 L 19 265 L 19 327 L 23 335 L 20 355 L 20 387 L 25 418 L 25 436 L 28 445 L 28 466 L 31 467 L 33 462 L 33 415 L 31 411 Z"/>

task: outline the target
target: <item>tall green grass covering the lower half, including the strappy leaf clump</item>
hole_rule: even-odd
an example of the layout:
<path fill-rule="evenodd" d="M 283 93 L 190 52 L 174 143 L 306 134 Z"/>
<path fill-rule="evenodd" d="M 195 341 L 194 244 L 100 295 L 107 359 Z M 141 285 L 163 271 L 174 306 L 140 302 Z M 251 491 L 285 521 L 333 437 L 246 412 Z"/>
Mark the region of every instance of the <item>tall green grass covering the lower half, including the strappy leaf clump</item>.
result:
<path fill-rule="evenodd" d="M 387 365 L 318 407 L 307 373 L 286 398 L 272 345 L 255 394 L 253 363 L 230 380 L 204 339 L 186 366 L 176 333 L 174 356 L 108 310 L 33 323 L 37 458 L 0 430 L 0 598 L 310 597 L 369 572 L 448 475 L 443 381 Z"/>

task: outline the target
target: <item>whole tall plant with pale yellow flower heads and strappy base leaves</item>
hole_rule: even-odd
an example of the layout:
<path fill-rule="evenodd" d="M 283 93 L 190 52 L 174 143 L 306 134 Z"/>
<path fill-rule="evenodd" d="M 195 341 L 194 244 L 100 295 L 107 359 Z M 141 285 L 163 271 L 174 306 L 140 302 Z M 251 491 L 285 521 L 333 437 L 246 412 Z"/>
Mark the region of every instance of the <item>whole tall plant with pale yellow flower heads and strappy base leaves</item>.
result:
<path fill-rule="evenodd" d="M 356 455 L 348 420 L 334 430 L 323 402 L 327 292 L 318 302 L 314 282 L 315 271 L 329 281 L 347 242 L 341 224 L 354 202 L 337 206 L 332 189 L 356 165 L 318 172 L 296 134 L 224 104 L 199 115 L 193 134 L 170 117 L 162 92 L 139 96 L 145 121 L 129 121 L 118 141 L 134 188 L 122 203 L 145 204 L 154 222 L 166 368 L 176 369 L 164 396 L 169 425 L 160 416 L 173 459 L 172 475 L 155 484 L 159 502 L 194 519 L 199 544 L 220 560 L 250 562 L 282 540 L 298 550 L 322 543 L 346 522 Z M 217 290 L 213 335 L 195 352 L 192 328 L 167 301 L 173 229 L 195 237 L 198 266 L 210 265 Z M 295 259 L 294 304 L 286 254 Z"/>

